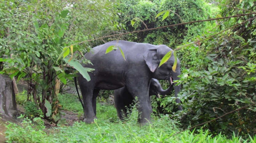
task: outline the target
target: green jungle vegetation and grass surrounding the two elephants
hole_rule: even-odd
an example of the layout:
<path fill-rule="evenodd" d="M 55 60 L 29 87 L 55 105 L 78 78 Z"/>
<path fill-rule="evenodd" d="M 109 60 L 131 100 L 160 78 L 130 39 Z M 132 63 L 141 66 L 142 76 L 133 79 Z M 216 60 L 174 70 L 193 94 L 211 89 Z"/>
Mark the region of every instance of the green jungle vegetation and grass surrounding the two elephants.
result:
<path fill-rule="evenodd" d="M 255 5 L 255 0 L 1 0 L 0 72 L 28 85 L 16 93 L 17 104 L 25 109 L 18 117 L 21 123 L 3 123 L 6 141 L 162 142 L 255 103 Z M 156 18 L 166 10 L 168 17 Z M 248 15 L 118 35 L 237 14 Z M 132 26 L 133 18 L 140 20 Z M 80 72 L 90 79 L 91 69 L 81 68 L 80 62 L 90 64 L 83 55 L 111 39 L 178 49 L 182 73 L 176 82 L 183 111 L 170 93 L 151 97 L 152 125 L 137 124 L 136 108 L 119 121 L 110 101 L 113 91 L 102 90 L 99 119 L 92 125 L 80 122 L 83 108 L 72 77 Z M 169 86 L 160 83 L 163 89 Z M 77 121 L 67 123 L 62 110 L 76 114 Z M 256 142 L 255 114 L 255 106 L 244 108 L 165 142 Z"/>

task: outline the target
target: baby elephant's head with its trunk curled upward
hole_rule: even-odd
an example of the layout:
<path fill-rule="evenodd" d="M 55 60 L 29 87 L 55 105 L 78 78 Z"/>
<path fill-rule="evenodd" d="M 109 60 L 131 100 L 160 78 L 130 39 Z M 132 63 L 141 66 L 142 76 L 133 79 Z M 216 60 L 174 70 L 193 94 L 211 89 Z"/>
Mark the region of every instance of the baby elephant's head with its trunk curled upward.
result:
<path fill-rule="evenodd" d="M 173 85 L 174 84 L 171 84 L 170 82 L 170 86 L 168 87 L 168 89 L 164 90 L 162 89 L 161 84 L 158 82 L 158 80 L 152 78 L 150 82 L 150 87 L 149 87 L 149 95 L 156 95 L 158 98 L 160 98 L 159 94 L 161 95 L 169 94 L 173 89 Z"/>

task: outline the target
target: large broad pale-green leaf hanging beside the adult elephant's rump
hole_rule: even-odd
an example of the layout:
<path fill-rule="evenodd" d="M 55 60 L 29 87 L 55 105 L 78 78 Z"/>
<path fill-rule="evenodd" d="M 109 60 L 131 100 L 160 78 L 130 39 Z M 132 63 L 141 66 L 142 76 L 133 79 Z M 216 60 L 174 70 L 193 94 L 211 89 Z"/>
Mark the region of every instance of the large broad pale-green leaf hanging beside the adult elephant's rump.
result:
<path fill-rule="evenodd" d="M 68 63 L 70 66 L 74 67 L 81 75 L 83 75 L 83 77 L 87 80 L 90 81 L 91 78 L 89 76 L 89 74 L 87 73 L 87 71 L 84 69 L 84 67 L 77 61 L 74 61 L 73 59 L 71 61 L 68 62 L 69 59 L 64 59 L 64 61 L 66 63 Z"/>

